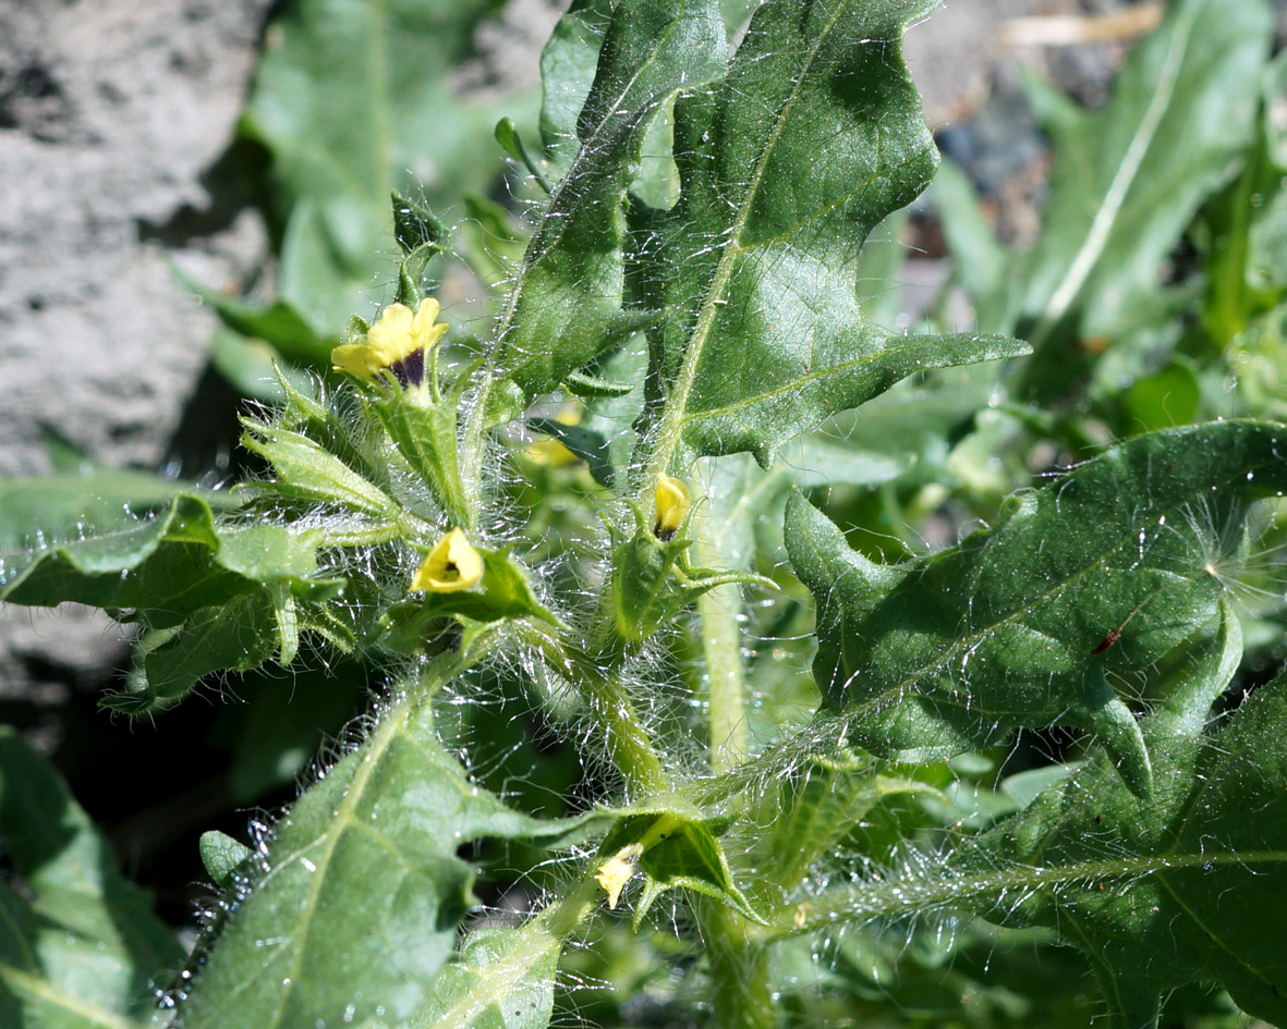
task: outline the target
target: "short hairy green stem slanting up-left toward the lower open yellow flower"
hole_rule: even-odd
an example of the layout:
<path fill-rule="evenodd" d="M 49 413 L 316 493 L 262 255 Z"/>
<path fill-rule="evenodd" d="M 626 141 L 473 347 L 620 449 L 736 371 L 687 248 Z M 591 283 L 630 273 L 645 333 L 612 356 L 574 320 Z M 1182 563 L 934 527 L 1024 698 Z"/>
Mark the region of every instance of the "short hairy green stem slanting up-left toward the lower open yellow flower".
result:
<path fill-rule="evenodd" d="M 620 679 L 602 671 L 589 655 L 553 638 L 541 626 L 529 625 L 525 638 L 586 698 L 591 715 L 607 738 L 613 764 L 625 778 L 627 791 L 633 796 L 669 791 L 671 781 L 662 759 Z"/>

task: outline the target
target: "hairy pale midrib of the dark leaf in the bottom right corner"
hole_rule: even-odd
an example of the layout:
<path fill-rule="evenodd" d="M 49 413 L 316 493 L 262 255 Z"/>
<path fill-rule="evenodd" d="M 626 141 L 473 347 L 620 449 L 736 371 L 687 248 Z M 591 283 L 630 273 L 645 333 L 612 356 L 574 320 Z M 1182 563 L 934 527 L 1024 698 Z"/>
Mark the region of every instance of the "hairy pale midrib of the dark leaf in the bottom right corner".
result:
<path fill-rule="evenodd" d="M 1227 853 L 1179 854 L 1166 851 L 1136 858 L 1089 861 L 1051 867 L 1010 866 L 1001 872 L 972 876 L 947 876 L 934 882 L 892 880 L 846 890 L 807 897 L 784 904 L 770 917 L 767 940 L 781 939 L 794 933 L 808 933 L 839 922 L 889 918 L 903 915 L 924 915 L 936 906 L 973 900 L 981 897 L 1003 895 L 1006 891 L 1036 891 L 1067 882 L 1109 882 L 1121 879 L 1160 876 L 1172 870 L 1212 868 L 1247 864 L 1287 863 L 1287 850 L 1239 850 Z M 806 907 L 802 925 L 795 921 L 802 906 Z"/>

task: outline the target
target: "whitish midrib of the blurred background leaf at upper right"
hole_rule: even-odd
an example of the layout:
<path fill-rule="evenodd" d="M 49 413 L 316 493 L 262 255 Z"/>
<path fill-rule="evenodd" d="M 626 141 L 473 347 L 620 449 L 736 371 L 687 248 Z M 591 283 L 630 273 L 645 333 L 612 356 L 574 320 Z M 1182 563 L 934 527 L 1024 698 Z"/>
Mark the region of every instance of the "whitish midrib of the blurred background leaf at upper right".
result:
<path fill-rule="evenodd" d="M 1063 280 L 1050 295 L 1045 313 L 1041 315 L 1041 322 L 1037 324 L 1037 328 L 1033 331 L 1031 337 L 1032 347 L 1035 350 L 1040 350 L 1050 331 L 1059 322 L 1059 319 L 1063 318 L 1072 301 L 1077 298 L 1077 293 L 1080 293 L 1081 287 L 1085 286 L 1086 278 L 1095 266 L 1095 261 L 1099 260 L 1104 247 L 1108 244 L 1108 235 L 1117 221 L 1117 216 L 1126 201 L 1126 194 L 1130 192 L 1130 188 L 1135 181 L 1135 176 L 1139 174 L 1139 168 L 1144 163 L 1144 157 L 1148 154 L 1149 147 L 1153 145 L 1157 129 L 1166 114 L 1171 98 L 1175 95 L 1175 84 L 1179 78 L 1180 66 L 1184 62 L 1184 51 L 1188 48 L 1189 32 L 1192 31 L 1193 21 L 1197 17 L 1193 12 L 1196 12 L 1196 8 L 1189 8 L 1176 27 L 1175 36 L 1171 39 L 1171 45 L 1166 54 L 1166 60 L 1163 62 L 1162 71 L 1158 76 L 1158 85 L 1153 91 L 1153 99 L 1149 100 L 1144 117 L 1140 120 L 1139 129 L 1135 131 L 1130 145 L 1126 148 L 1122 163 L 1113 175 L 1113 180 L 1109 184 L 1108 190 L 1104 193 L 1103 202 L 1095 211 L 1095 217 L 1090 223 L 1090 232 L 1086 233 L 1086 238 L 1077 250 L 1072 264 L 1068 265 L 1068 271 L 1064 274 Z"/>

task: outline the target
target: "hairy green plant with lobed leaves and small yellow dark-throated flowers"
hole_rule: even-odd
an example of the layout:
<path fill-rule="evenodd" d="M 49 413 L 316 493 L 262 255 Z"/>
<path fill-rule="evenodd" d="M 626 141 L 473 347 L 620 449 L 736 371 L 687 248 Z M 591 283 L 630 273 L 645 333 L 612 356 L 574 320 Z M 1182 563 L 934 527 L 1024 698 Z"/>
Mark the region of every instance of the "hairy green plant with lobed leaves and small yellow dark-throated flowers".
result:
<path fill-rule="evenodd" d="M 1273 178 L 1269 12 L 1176 0 L 1094 116 L 1033 85 L 1066 163 L 1010 265 L 949 172 L 961 333 L 891 328 L 865 250 L 938 163 L 901 50 L 933 6 L 574 0 L 539 138 L 495 132 L 510 257 L 395 193 L 387 302 L 243 418 L 261 475 L 12 548 L 4 599 L 138 626 L 115 711 L 341 653 L 372 701 L 252 846 L 202 839 L 223 902 L 187 958 L 0 737 L 0 1023 L 1136 1029 L 1198 983 L 1287 1024 L 1287 427 L 1196 417 L 1275 414 L 1202 406 L 1269 329 L 1156 328 L 1279 310 L 1228 247 L 1158 270 Z M 467 327 L 435 295 L 462 255 L 494 292 Z M 960 531 L 875 540 L 871 498 Z M 1044 1007 L 1024 948 L 1099 999 Z"/>

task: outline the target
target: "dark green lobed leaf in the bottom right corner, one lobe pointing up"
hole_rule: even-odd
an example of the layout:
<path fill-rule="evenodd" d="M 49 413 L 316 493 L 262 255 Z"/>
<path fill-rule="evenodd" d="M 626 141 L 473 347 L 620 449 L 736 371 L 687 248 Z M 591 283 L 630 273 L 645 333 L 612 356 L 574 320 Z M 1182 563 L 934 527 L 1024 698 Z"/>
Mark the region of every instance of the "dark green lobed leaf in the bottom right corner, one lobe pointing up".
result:
<path fill-rule="evenodd" d="M 1282 678 L 1247 700 L 1214 738 L 1203 727 L 1242 653 L 1227 616 L 1185 687 L 1144 720 L 1158 790 L 1142 801 L 1103 754 L 952 862 L 1031 885 L 1017 900 L 981 897 L 988 917 L 1057 927 L 1088 951 L 1116 1025 L 1151 1025 L 1160 994 L 1216 981 L 1248 1014 L 1282 1024 L 1287 953 L 1287 774 Z M 1112 839 L 1106 850 L 1103 841 Z M 1019 895 L 1022 894 L 1022 895 Z"/>

